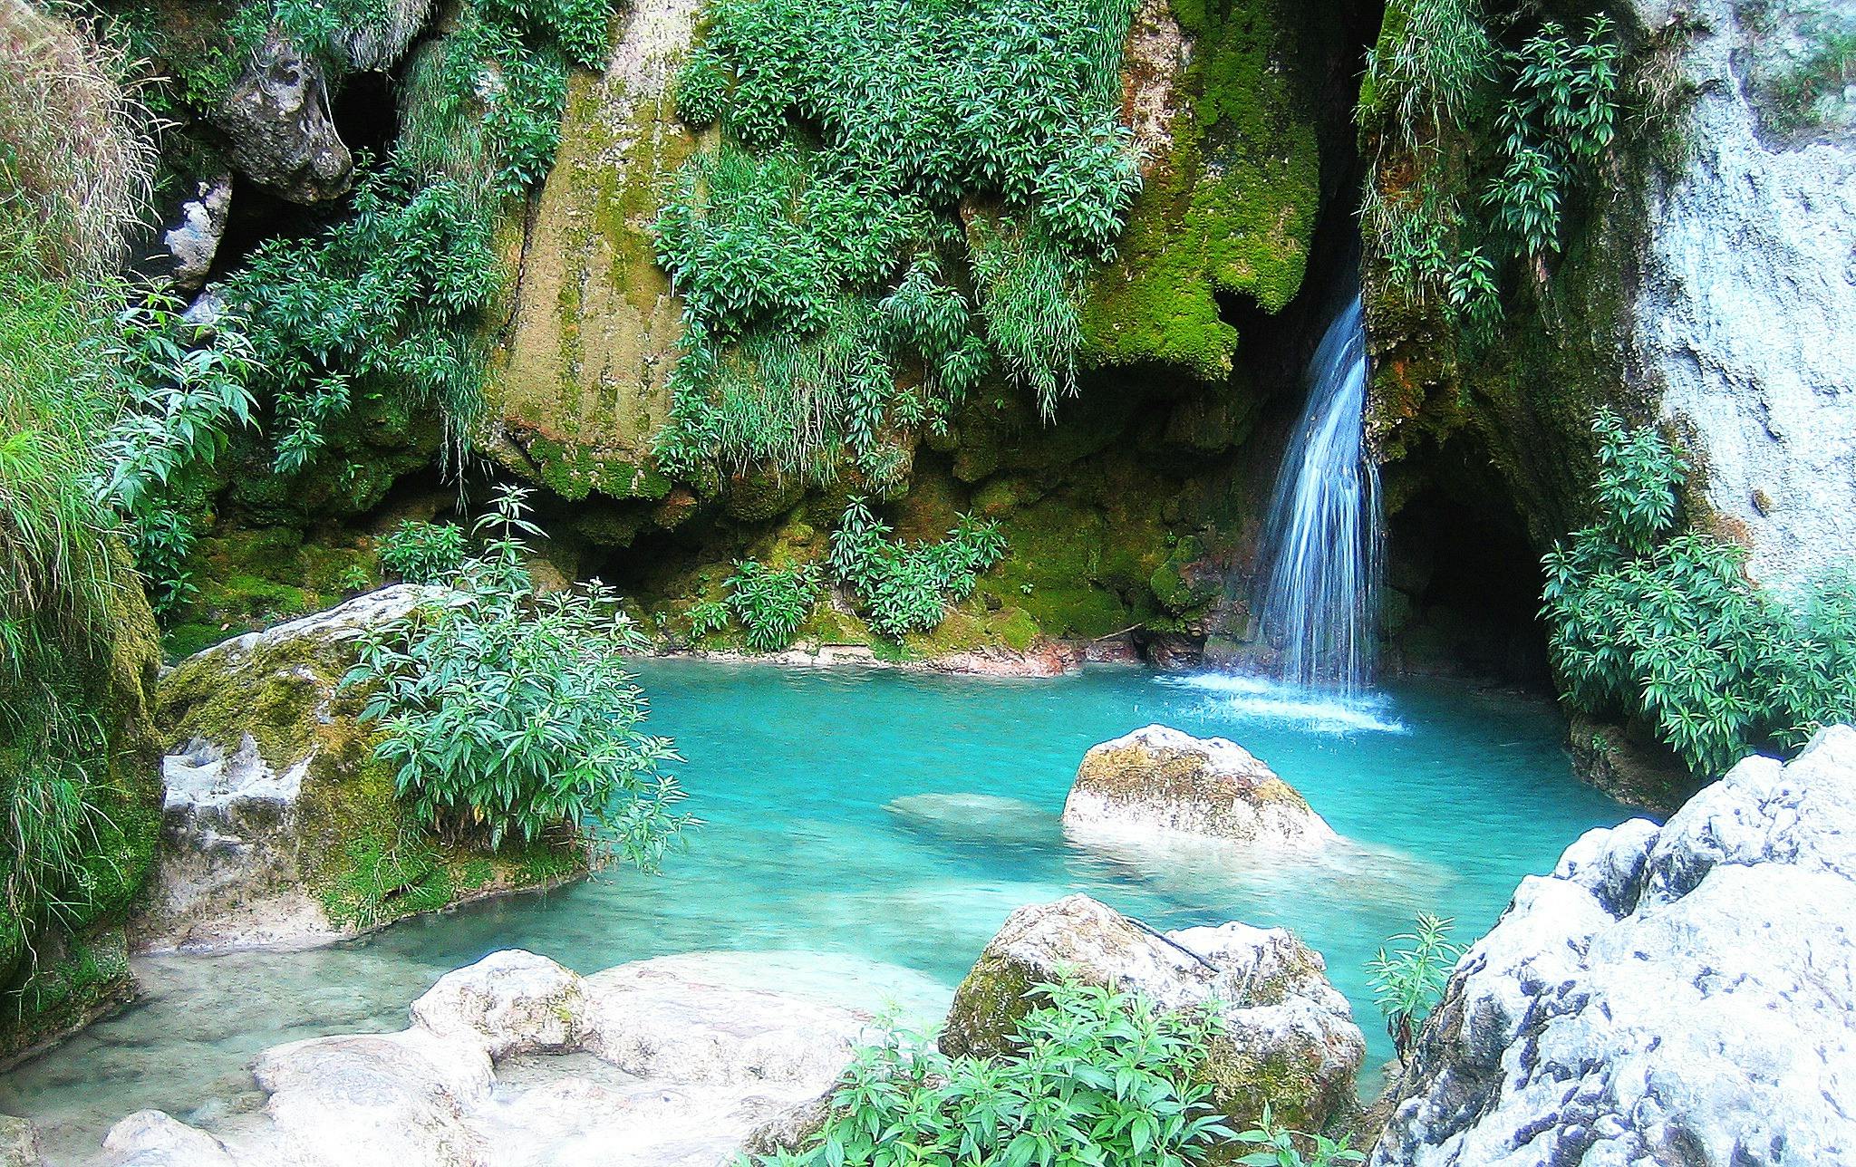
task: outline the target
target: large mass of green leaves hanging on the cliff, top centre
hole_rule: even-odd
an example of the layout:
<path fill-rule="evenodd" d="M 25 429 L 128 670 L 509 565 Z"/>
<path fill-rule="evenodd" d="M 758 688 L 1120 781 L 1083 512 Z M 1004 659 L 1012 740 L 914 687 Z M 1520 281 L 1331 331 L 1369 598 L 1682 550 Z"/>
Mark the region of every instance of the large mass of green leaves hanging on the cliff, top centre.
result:
<path fill-rule="evenodd" d="M 896 430 L 943 427 L 993 364 L 1054 408 L 1088 262 L 1140 187 L 1117 122 L 1132 7 L 715 6 L 677 102 L 724 145 L 657 221 L 687 325 L 663 464 L 828 479 L 848 456 L 883 481 Z M 1002 226 L 969 232 L 963 200 Z M 971 288 L 943 275 L 961 263 Z"/>

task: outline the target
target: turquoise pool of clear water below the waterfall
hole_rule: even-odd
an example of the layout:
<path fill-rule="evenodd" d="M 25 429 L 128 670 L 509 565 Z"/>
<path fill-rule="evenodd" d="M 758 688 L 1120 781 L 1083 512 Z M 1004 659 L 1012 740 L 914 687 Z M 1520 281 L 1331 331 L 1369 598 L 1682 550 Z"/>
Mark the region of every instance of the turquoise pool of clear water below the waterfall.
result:
<path fill-rule="evenodd" d="M 117 1117 L 202 1124 L 256 1106 L 258 1050 L 405 1024 L 431 981 L 522 946 L 592 972 L 724 950 L 741 980 L 934 1017 L 1013 907 L 1082 891 L 1158 928 L 1288 926 L 1327 955 L 1372 1059 L 1390 1054 L 1362 963 L 1416 911 L 1485 931 L 1520 876 L 1626 811 L 1576 783 L 1542 701 L 1399 685 L 1375 703 L 1125 668 L 1041 681 L 653 660 L 653 724 L 707 820 L 668 872 L 414 920 L 295 954 L 141 963 L 148 1000 L 0 1078 L 84 1161 Z M 1082 753 L 1149 722 L 1225 735 L 1355 840 L 1323 865 L 1219 848 L 1102 850 L 1058 822 Z M 986 796 L 943 800 L 921 796 Z M 895 800 L 908 800 L 896 803 Z"/>

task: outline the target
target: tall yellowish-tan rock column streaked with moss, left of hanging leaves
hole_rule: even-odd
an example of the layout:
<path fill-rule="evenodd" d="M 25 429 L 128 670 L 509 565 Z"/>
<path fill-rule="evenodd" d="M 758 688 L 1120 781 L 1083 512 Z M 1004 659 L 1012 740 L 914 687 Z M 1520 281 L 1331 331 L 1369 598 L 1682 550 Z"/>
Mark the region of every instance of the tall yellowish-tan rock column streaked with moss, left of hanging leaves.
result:
<path fill-rule="evenodd" d="M 505 232 L 514 273 L 488 386 L 486 453 L 568 499 L 661 499 L 650 460 L 670 416 L 681 306 L 657 267 L 657 193 L 696 150 L 672 78 L 698 0 L 642 0 L 601 74 L 575 72 L 561 152 Z"/>

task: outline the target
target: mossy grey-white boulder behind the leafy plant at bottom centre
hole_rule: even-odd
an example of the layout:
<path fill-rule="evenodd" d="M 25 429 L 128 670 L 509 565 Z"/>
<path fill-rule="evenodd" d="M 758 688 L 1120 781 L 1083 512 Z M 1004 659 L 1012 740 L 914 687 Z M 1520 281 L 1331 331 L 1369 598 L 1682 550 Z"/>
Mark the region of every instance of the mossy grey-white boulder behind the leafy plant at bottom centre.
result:
<path fill-rule="evenodd" d="M 1025 993 L 1060 976 L 1138 991 L 1162 1009 L 1218 1000 L 1225 1033 L 1210 1052 L 1212 1104 L 1236 1130 L 1264 1104 L 1297 1130 L 1355 1108 L 1366 1043 L 1321 955 L 1292 933 L 1225 924 L 1166 935 L 1088 896 L 1012 913 L 954 993 L 941 1048 L 1012 1052 Z"/>

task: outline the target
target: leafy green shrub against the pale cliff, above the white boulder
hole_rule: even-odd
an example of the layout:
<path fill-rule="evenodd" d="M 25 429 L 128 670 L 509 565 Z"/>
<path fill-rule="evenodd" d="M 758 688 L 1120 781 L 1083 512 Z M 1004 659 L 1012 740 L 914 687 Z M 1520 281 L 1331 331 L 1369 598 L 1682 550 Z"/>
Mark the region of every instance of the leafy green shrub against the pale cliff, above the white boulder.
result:
<path fill-rule="evenodd" d="M 1594 525 L 1546 557 L 1542 616 L 1568 699 L 1644 718 L 1698 776 L 1856 718 L 1856 581 L 1756 586 L 1746 553 L 1682 531 L 1682 456 L 1654 427 L 1594 423 Z"/>

